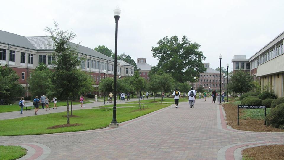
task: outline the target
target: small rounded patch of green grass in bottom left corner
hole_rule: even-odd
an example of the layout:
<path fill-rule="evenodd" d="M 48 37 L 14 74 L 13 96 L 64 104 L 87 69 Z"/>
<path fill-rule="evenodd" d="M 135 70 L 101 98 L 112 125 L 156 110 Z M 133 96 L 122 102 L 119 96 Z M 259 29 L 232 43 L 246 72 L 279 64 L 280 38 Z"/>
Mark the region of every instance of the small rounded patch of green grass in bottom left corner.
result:
<path fill-rule="evenodd" d="M 0 159 L 14 160 L 27 154 L 25 148 L 13 145 L 0 145 Z"/>

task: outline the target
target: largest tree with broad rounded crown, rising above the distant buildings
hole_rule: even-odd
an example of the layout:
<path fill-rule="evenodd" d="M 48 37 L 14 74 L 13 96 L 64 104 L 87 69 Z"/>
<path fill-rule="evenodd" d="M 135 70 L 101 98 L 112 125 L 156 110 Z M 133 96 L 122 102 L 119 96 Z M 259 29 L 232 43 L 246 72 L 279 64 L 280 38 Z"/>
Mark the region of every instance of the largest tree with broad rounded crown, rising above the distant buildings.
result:
<path fill-rule="evenodd" d="M 205 56 L 198 51 L 200 45 L 191 43 L 186 36 L 179 41 L 178 36 L 164 37 L 158 47 L 152 47 L 152 55 L 158 58 L 158 68 L 169 73 L 175 81 L 194 81 L 194 76 L 206 71 L 202 60 Z"/>

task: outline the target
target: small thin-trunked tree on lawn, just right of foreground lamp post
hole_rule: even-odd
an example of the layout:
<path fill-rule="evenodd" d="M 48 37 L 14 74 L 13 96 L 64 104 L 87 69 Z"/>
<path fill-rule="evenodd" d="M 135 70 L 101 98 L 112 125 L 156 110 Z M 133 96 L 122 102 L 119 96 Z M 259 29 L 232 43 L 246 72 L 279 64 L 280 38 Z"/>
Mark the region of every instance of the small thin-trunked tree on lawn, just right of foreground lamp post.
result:
<path fill-rule="evenodd" d="M 141 109 L 141 104 L 140 104 L 140 98 L 139 98 L 139 92 L 145 88 L 145 79 L 143 77 L 140 77 L 140 74 L 138 71 L 134 72 L 134 75 L 130 78 L 130 83 L 131 86 L 134 88 L 137 99 L 139 102 L 139 108 Z"/>

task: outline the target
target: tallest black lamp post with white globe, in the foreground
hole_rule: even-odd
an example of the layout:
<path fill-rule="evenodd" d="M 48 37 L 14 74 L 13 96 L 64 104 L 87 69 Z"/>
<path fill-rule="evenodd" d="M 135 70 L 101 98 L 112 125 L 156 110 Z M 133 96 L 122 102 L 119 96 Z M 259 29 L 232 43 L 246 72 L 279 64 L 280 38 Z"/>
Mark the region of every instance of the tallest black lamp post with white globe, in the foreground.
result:
<path fill-rule="evenodd" d="M 115 19 L 115 47 L 114 47 L 114 81 L 113 81 L 113 113 L 112 113 L 112 122 L 109 127 L 117 128 L 118 123 L 116 121 L 116 74 L 117 74 L 117 28 L 118 20 L 120 18 L 120 8 L 116 6 L 116 9 L 113 10 L 114 19 Z"/>

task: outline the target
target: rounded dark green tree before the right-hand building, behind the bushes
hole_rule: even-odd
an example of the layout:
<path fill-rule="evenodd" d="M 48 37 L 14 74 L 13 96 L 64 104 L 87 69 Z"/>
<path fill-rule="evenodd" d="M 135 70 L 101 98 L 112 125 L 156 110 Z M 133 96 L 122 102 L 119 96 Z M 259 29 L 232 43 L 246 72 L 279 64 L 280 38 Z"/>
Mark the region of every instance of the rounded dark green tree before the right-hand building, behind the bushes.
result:
<path fill-rule="evenodd" d="M 230 84 L 228 88 L 235 93 L 249 92 L 254 87 L 253 80 L 249 72 L 241 70 L 234 71 L 231 76 Z"/>

